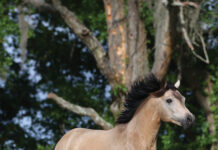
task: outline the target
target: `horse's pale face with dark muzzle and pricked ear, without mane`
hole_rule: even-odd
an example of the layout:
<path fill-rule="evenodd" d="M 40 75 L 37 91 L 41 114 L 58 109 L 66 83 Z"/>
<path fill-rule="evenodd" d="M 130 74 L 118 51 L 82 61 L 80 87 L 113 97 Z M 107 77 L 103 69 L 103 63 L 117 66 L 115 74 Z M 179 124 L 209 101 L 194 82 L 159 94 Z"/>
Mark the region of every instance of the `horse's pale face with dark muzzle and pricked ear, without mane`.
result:
<path fill-rule="evenodd" d="M 154 94 L 162 95 L 157 97 L 160 119 L 186 129 L 194 123 L 195 117 L 185 106 L 185 97 L 178 91 L 178 82 L 175 85 L 167 83 L 162 93 Z"/>

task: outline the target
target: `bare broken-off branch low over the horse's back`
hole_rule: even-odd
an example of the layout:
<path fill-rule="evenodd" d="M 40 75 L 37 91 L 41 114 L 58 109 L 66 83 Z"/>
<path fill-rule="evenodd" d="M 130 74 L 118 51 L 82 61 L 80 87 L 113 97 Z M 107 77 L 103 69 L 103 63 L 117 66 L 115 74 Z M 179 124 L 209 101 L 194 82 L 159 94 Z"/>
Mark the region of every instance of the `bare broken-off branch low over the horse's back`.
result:
<path fill-rule="evenodd" d="M 106 122 L 102 117 L 100 117 L 93 108 L 86 108 L 79 105 L 71 104 L 54 93 L 48 94 L 48 98 L 55 101 L 60 107 L 64 109 L 67 109 L 78 115 L 88 116 L 92 118 L 92 120 L 103 129 L 111 129 L 113 127 L 110 123 Z"/>

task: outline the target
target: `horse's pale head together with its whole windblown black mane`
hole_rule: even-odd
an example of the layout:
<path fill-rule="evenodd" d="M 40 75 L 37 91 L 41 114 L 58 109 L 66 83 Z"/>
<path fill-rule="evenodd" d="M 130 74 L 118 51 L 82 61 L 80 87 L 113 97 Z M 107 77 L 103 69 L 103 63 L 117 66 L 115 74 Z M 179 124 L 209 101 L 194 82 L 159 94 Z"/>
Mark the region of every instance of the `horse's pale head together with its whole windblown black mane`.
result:
<path fill-rule="evenodd" d="M 161 121 L 172 122 L 187 128 L 195 120 L 194 115 L 185 106 L 185 97 L 178 91 L 179 82 L 175 85 L 160 82 L 153 74 L 136 81 L 128 92 L 125 110 L 117 119 L 117 123 L 127 123 L 134 116 L 137 108 L 144 101 L 153 103 Z"/>

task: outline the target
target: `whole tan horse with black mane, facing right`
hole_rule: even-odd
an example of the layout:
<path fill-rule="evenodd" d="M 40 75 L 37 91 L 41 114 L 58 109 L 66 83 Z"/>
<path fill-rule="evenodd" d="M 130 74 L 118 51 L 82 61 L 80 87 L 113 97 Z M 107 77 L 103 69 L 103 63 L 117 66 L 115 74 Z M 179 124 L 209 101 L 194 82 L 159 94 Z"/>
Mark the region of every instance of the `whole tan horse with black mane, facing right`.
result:
<path fill-rule="evenodd" d="M 195 120 L 178 91 L 179 84 L 161 82 L 153 74 L 134 82 L 114 128 L 72 129 L 55 150 L 156 150 L 161 122 L 186 129 Z"/>

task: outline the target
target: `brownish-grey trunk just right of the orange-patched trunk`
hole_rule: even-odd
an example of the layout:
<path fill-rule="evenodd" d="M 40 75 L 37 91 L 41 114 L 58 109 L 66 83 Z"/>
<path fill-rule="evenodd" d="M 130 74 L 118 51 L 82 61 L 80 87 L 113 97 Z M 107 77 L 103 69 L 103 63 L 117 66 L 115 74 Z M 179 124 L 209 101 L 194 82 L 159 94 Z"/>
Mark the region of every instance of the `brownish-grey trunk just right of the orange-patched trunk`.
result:
<path fill-rule="evenodd" d="M 132 82 L 149 73 L 149 62 L 146 45 L 144 21 L 140 18 L 141 0 L 128 1 L 128 57 L 126 85 L 130 88 Z"/>

